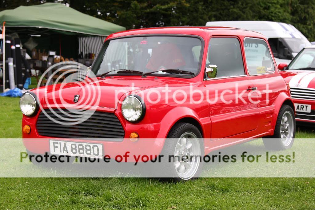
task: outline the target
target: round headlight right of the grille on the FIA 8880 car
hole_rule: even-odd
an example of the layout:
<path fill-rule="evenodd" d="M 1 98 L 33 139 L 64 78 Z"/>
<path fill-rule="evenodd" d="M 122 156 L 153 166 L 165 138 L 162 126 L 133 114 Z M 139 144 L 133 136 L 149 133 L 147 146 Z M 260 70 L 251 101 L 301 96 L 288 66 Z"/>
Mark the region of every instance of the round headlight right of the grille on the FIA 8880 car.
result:
<path fill-rule="evenodd" d="M 144 115 L 143 108 L 140 100 L 135 96 L 126 97 L 121 105 L 123 117 L 130 122 L 135 122 Z"/>

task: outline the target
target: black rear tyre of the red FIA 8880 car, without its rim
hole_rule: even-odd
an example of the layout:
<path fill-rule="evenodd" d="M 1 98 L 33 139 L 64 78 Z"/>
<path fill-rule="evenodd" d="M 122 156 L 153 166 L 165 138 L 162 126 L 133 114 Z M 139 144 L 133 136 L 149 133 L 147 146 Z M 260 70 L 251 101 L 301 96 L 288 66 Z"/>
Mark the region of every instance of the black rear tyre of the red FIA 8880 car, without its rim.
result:
<path fill-rule="evenodd" d="M 281 120 L 282 117 L 284 115 L 284 113 L 286 113 L 287 111 L 289 111 L 291 113 L 291 115 L 293 116 L 293 136 L 292 139 L 290 141 L 289 144 L 285 145 L 284 142 L 281 140 Z M 263 142 L 264 145 L 266 147 L 266 149 L 268 150 L 286 150 L 292 147 L 293 142 L 294 142 L 294 138 L 295 138 L 295 115 L 294 115 L 294 111 L 292 109 L 291 106 L 289 105 L 282 105 L 279 114 L 278 114 L 278 118 L 277 118 L 277 122 L 276 122 L 276 126 L 275 126 L 275 130 L 272 136 L 268 136 L 267 138 L 263 138 Z"/>

